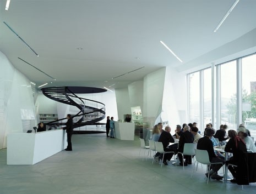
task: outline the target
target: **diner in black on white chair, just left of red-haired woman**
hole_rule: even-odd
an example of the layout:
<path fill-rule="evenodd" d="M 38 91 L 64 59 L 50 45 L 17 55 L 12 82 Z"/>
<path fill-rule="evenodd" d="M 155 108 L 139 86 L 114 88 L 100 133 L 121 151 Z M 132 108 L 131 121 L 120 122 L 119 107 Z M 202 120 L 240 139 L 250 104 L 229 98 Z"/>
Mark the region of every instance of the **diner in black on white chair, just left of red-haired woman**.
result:
<path fill-rule="evenodd" d="M 220 180 L 223 179 L 223 176 L 217 174 L 218 170 L 225 164 L 224 159 L 221 159 L 215 155 L 213 142 L 211 141 L 211 137 L 214 135 L 214 130 L 211 128 L 205 129 L 205 136 L 198 140 L 197 149 L 198 150 L 207 150 L 209 155 L 210 162 L 222 162 L 222 164 L 211 164 L 211 169 L 209 172 L 209 176 L 212 179 Z M 205 174 L 208 177 L 208 173 Z"/>

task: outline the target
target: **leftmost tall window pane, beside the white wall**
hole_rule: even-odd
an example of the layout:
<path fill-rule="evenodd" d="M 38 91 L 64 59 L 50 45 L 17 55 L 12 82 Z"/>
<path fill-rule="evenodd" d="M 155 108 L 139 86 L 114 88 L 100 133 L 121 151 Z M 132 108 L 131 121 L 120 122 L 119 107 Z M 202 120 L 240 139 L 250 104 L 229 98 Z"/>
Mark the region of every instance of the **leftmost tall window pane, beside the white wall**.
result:
<path fill-rule="evenodd" d="M 200 129 L 200 72 L 189 75 L 189 122 L 197 122 Z"/>

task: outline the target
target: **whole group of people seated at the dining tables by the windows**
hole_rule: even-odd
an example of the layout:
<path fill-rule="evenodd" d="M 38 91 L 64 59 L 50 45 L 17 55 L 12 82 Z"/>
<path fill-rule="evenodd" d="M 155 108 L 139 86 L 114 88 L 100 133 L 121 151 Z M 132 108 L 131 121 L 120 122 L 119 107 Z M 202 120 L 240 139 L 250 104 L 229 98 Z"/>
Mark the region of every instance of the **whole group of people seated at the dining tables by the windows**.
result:
<path fill-rule="evenodd" d="M 159 162 L 162 159 L 162 162 L 165 165 L 168 165 L 167 161 L 170 161 L 173 157 L 173 154 L 178 153 L 179 165 L 180 166 L 188 166 L 188 164 L 192 164 L 192 157 L 184 155 L 182 157 L 182 152 L 184 148 L 184 144 L 186 143 L 197 143 L 197 149 L 206 150 L 209 155 L 210 162 L 219 164 L 212 164 L 210 172 L 205 175 L 211 177 L 212 179 L 221 180 L 223 176 L 220 176 L 217 172 L 219 169 L 226 164 L 237 164 L 241 161 L 241 158 L 244 158 L 244 153 L 256 152 L 256 146 L 254 145 L 254 141 L 250 138 L 249 131 L 241 124 L 239 128 L 236 130 L 226 130 L 228 126 L 220 125 L 219 130 L 215 130 L 213 125 L 207 124 L 204 130 L 204 135 L 200 135 L 198 133 L 197 123 L 189 123 L 176 126 L 175 134 L 171 135 L 171 127 L 167 126 L 165 129 L 162 129 L 162 123 L 158 123 L 154 126 L 152 130 L 152 140 L 162 142 L 164 151 L 173 151 L 173 153 L 166 153 L 164 158 L 161 153 L 156 153 L 154 159 L 156 162 Z M 174 143 L 175 139 L 178 139 L 178 144 L 170 144 Z M 219 139 L 219 142 L 223 142 L 225 144 L 225 152 L 232 153 L 231 157 L 225 161 L 225 157 L 219 152 L 214 150 L 214 146 L 219 146 L 220 143 L 216 141 Z M 184 161 L 182 161 L 184 158 Z M 237 182 L 237 177 L 239 175 L 236 166 L 228 166 L 228 170 L 230 170 L 233 179 L 231 182 Z"/>

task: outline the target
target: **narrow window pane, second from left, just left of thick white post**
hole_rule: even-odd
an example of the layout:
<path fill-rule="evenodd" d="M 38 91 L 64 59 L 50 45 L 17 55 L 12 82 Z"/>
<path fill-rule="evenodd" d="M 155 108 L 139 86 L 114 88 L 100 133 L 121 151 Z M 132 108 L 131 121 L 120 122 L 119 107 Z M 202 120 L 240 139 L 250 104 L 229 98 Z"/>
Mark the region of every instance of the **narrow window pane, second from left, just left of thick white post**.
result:
<path fill-rule="evenodd" d="M 205 125 L 207 123 L 213 123 L 211 121 L 212 118 L 212 108 L 211 108 L 211 104 L 212 104 L 212 100 L 211 100 L 211 68 L 206 69 L 203 71 L 203 75 L 204 75 L 204 113 L 203 113 L 203 127 L 201 127 L 201 129 L 203 129 L 205 127 Z"/>

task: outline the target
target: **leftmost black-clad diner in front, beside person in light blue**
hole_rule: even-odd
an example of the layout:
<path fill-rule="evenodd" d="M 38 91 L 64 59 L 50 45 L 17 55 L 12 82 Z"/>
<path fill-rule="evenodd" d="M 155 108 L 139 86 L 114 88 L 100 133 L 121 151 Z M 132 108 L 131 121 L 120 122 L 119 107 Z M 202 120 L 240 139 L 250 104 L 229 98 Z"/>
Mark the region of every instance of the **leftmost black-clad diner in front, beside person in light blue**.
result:
<path fill-rule="evenodd" d="M 168 145 L 171 143 L 174 143 L 175 140 L 172 138 L 172 135 L 170 134 L 171 132 L 171 127 L 167 126 L 165 127 L 165 130 L 161 133 L 160 138 L 159 138 L 159 142 L 162 142 L 162 146 L 164 147 L 164 151 L 169 152 L 169 151 L 177 151 L 177 149 L 172 149 L 172 147 L 168 147 Z M 172 158 L 173 153 L 166 153 L 165 157 L 162 158 L 162 155 L 157 152 L 156 155 L 154 156 L 155 161 L 159 162 L 160 158 L 162 158 L 162 161 L 165 165 L 168 165 L 168 163 L 166 162 L 166 160 L 168 159 L 170 161 L 170 159 Z"/>

